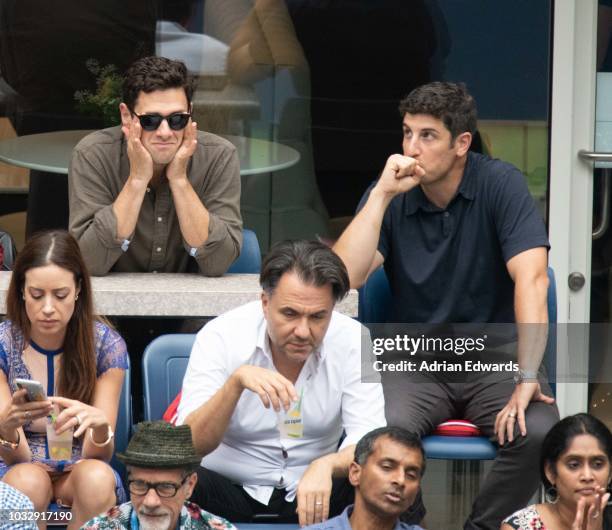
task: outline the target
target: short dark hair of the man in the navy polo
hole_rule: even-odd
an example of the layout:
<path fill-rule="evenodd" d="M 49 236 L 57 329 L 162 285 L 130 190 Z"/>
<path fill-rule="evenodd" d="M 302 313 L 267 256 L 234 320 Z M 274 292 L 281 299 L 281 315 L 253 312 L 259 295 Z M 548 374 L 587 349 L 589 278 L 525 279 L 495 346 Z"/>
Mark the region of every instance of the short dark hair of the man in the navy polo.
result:
<path fill-rule="evenodd" d="M 427 114 L 442 120 L 452 141 L 464 132 L 476 131 L 476 102 L 463 83 L 436 81 L 415 88 L 402 101 L 399 111 L 406 114 Z"/>

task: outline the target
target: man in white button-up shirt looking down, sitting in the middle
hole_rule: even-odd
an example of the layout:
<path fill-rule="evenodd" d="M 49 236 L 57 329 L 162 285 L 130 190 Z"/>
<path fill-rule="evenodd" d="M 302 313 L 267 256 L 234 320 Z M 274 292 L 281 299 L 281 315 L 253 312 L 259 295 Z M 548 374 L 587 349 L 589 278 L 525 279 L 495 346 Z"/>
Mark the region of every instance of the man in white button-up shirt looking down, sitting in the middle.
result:
<path fill-rule="evenodd" d="M 333 311 L 349 280 L 329 248 L 277 245 L 260 283 L 261 302 L 209 322 L 191 352 L 178 421 L 206 455 L 192 500 L 235 522 L 312 524 L 352 502 L 355 443 L 385 425 L 382 387 L 361 379 L 367 331 Z"/>

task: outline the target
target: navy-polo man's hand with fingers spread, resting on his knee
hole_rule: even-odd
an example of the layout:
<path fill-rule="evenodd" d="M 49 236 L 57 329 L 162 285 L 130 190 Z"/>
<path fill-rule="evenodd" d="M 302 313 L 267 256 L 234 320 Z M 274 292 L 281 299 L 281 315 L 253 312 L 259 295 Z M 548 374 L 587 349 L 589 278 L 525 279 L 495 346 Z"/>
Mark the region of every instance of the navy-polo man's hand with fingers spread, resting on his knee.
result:
<path fill-rule="evenodd" d="M 495 418 L 495 434 L 500 445 L 504 445 L 506 439 L 509 442 L 514 440 L 514 427 L 517 421 L 521 435 L 527 435 L 525 410 L 532 401 L 542 401 L 549 405 L 555 402 L 554 398 L 542 393 L 540 383 L 537 381 L 525 381 L 516 385 L 510 401 Z"/>

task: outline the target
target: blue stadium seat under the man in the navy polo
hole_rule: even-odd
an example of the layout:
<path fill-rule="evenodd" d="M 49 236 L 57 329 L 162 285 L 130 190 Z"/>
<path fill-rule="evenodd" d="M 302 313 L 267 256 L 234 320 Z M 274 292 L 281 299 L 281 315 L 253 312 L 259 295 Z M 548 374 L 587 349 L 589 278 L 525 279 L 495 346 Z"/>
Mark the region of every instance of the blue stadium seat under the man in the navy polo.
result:
<path fill-rule="evenodd" d="M 543 364 L 553 392 L 556 379 L 556 326 L 557 287 L 554 271 L 548 268 L 548 319 L 549 337 L 544 352 Z M 359 289 L 358 318 L 363 324 L 385 323 L 390 320 L 392 304 L 391 289 L 382 267 L 374 271 Z M 428 458 L 440 460 L 492 460 L 497 454 L 496 446 L 483 436 L 438 436 L 423 438 Z"/>

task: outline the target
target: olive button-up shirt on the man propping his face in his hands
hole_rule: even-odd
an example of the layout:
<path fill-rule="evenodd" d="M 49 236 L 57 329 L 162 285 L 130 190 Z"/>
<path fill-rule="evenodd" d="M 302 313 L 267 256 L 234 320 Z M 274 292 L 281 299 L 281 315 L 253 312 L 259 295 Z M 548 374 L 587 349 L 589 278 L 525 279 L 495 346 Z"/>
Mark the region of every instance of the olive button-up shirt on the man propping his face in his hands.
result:
<path fill-rule="evenodd" d="M 223 274 L 242 244 L 236 148 L 223 138 L 198 131 L 187 177 L 210 214 L 210 224 L 208 239 L 195 252 L 183 239 L 165 177 L 157 187 L 147 189 L 129 243 L 117 238 L 113 203 L 129 174 L 120 127 L 86 136 L 73 151 L 68 170 L 69 229 L 90 272 L 95 276 L 109 271 Z"/>

